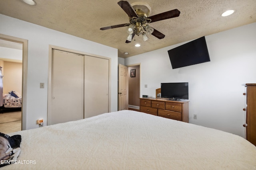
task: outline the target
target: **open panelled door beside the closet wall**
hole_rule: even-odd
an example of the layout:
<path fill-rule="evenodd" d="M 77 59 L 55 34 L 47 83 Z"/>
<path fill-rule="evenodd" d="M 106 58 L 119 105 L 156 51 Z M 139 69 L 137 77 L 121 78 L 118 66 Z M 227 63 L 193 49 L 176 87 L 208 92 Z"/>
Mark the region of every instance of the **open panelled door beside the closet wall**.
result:
<path fill-rule="evenodd" d="M 118 64 L 118 111 L 128 110 L 128 67 Z"/>

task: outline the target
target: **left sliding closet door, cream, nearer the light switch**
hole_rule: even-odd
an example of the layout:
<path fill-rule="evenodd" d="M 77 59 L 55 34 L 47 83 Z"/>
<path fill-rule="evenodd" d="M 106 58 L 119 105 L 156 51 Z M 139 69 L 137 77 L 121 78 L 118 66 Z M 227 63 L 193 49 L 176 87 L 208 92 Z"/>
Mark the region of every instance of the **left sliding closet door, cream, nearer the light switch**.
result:
<path fill-rule="evenodd" d="M 52 50 L 48 125 L 84 118 L 84 55 Z"/>

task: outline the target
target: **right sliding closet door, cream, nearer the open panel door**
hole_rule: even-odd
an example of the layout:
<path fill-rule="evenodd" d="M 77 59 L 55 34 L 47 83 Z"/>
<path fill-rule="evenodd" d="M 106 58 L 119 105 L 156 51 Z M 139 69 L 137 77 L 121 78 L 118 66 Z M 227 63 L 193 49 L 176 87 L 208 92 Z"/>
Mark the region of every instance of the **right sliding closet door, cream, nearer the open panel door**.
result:
<path fill-rule="evenodd" d="M 84 118 L 87 118 L 108 112 L 109 60 L 84 57 Z"/>

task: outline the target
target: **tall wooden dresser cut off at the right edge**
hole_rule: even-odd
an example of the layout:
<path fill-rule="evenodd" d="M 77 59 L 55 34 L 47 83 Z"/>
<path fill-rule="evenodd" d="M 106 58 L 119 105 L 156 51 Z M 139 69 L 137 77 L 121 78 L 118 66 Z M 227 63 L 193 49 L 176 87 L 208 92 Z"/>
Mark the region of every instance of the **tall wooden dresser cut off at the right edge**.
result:
<path fill-rule="evenodd" d="M 256 84 L 245 84 L 246 89 L 246 139 L 256 146 Z"/>

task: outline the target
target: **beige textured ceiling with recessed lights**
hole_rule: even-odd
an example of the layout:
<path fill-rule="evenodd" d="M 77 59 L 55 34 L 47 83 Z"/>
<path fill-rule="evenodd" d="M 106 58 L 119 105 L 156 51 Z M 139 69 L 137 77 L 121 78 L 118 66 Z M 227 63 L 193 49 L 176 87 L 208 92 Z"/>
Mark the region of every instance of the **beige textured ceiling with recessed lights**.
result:
<path fill-rule="evenodd" d="M 152 8 L 150 16 L 174 9 L 180 10 L 180 16 L 150 23 L 166 35 L 164 39 L 149 35 L 148 41 L 142 41 L 142 35 L 135 35 L 136 41 L 125 43 L 126 27 L 100 30 L 129 23 L 119 0 L 35 1 L 36 6 L 29 6 L 21 0 L 0 0 L 0 14 L 114 47 L 122 58 L 256 22 L 256 0 L 129 0 L 146 2 Z M 221 16 L 230 9 L 235 10 L 233 15 Z M 135 43 L 141 46 L 134 47 Z"/>

